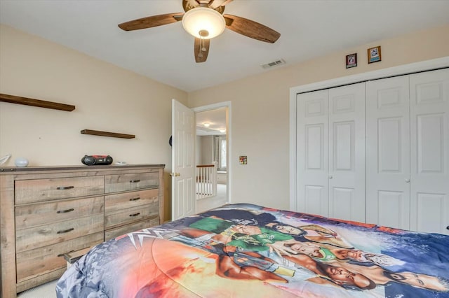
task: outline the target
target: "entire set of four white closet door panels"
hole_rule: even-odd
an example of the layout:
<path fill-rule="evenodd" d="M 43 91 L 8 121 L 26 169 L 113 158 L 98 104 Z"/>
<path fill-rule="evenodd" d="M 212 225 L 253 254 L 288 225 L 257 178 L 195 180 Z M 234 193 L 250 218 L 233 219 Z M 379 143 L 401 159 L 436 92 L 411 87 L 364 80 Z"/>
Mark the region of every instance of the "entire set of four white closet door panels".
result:
<path fill-rule="evenodd" d="M 297 211 L 449 234 L 449 69 L 296 96 Z"/>

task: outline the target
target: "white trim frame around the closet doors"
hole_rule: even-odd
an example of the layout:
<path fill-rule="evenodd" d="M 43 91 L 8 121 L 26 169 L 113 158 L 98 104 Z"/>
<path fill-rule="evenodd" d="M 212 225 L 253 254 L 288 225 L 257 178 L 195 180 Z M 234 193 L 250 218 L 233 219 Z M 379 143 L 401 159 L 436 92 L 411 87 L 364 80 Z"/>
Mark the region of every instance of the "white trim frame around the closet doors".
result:
<path fill-rule="evenodd" d="M 405 64 L 401 66 L 394 66 L 377 71 L 368 71 L 366 73 L 359 73 L 351 76 L 344 76 L 332 80 L 324 80 L 317 83 L 307 85 L 300 85 L 290 88 L 290 210 L 297 211 L 297 94 L 302 92 L 310 92 L 330 87 L 338 87 L 352 83 L 359 83 L 366 80 L 374 80 L 378 78 L 387 78 L 389 76 L 400 76 L 408 73 L 415 73 L 419 71 L 429 71 L 432 69 L 441 69 L 449 67 L 449 56 L 437 59 L 431 59 L 424 62 L 415 62 L 412 64 Z"/>

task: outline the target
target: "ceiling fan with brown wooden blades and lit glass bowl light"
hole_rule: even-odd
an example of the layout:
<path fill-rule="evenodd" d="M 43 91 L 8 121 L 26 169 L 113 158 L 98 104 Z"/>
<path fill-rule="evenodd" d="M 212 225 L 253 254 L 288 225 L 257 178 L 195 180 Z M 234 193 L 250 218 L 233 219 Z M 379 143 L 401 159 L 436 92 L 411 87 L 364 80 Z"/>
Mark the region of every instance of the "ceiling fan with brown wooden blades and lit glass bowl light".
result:
<path fill-rule="evenodd" d="M 279 32 L 244 17 L 223 15 L 225 5 L 230 2 L 232 0 L 182 0 L 182 8 L 185 13 L 166 13 L 142 17 L 119 24 L 119 27 L 125 31 L 132 31 L 182 21 L 185 30 L 195 37 L 194 54 L 197 63 L 206 61 L 210 38 L 222 34 L 225 27 L 267 43 L 275 43 L 281 36 Z"/>

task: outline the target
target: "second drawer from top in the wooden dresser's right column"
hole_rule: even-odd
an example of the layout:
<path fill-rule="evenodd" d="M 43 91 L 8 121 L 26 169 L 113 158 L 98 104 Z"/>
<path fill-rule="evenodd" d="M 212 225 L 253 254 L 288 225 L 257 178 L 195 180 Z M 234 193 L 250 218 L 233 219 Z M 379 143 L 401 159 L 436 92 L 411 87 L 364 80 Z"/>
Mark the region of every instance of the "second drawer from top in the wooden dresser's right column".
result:
<path fill-rule="evenodd" d="M 138 192 L 126 192 L 122 194 L 111 194 L 105 196 L 105 213 L 152 204 L 159 202 L 159 190 L 140 190 Z"/>

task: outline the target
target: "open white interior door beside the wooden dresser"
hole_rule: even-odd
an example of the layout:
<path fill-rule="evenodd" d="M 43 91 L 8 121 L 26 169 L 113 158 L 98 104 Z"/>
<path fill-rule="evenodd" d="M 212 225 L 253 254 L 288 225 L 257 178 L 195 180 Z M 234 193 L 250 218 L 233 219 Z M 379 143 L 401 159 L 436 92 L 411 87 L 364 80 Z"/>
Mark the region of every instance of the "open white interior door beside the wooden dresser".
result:
<path fill-rule="evenodd" d="M 195 213 L 195 113 L 172 99 L 172 220 Z"/>

